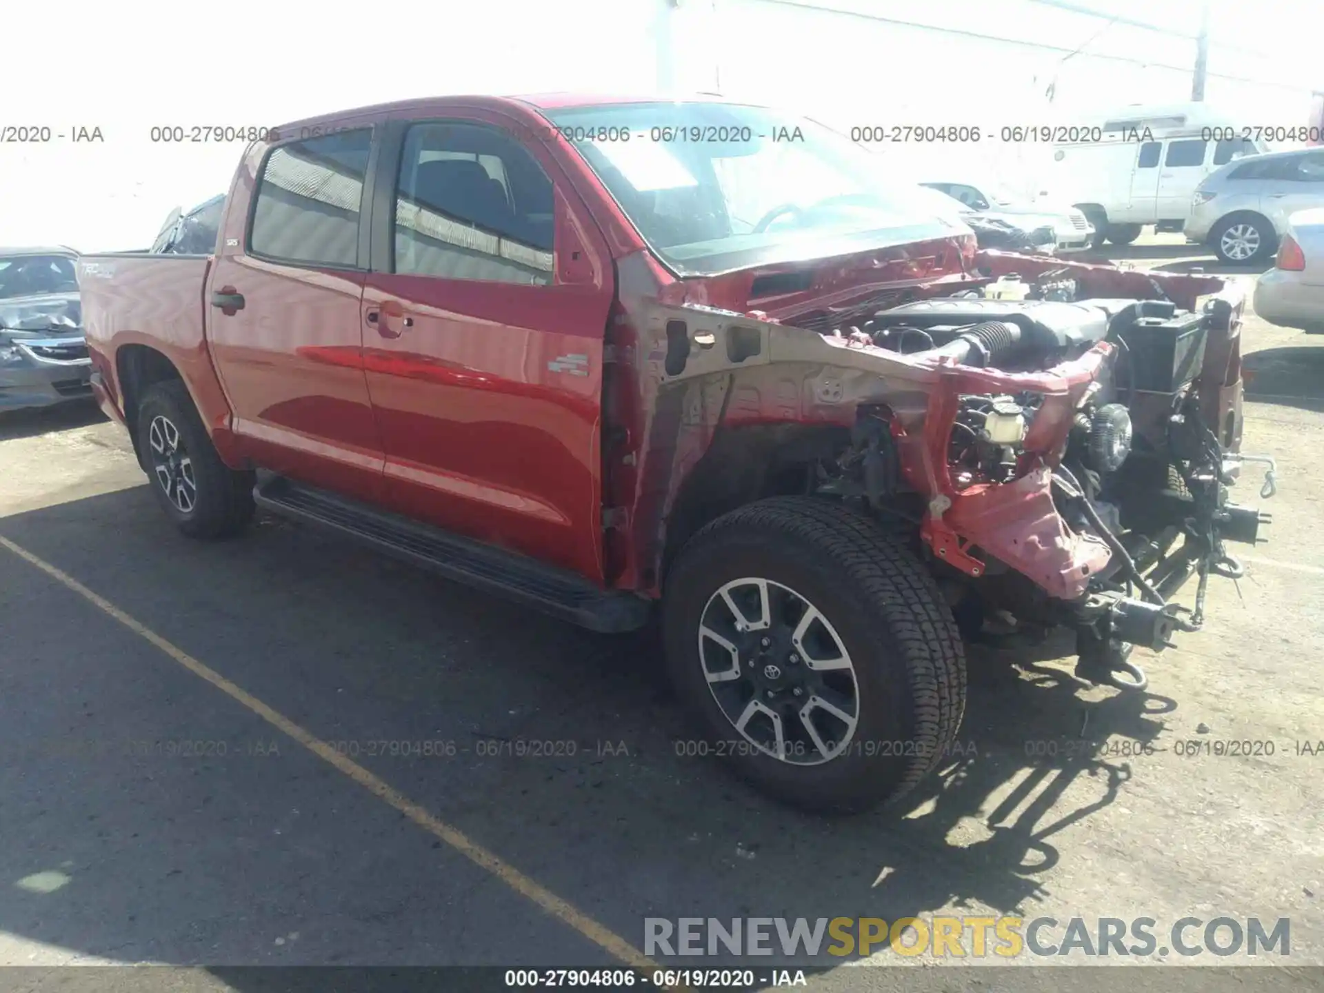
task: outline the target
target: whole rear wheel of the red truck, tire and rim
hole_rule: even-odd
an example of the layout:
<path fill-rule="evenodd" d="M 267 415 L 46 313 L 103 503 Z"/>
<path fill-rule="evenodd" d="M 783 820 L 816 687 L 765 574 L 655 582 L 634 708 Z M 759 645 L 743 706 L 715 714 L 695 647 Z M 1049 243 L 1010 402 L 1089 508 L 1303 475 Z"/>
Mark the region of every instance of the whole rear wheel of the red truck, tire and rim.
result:
<path fill-rule="evenodd" d="M 253 473 L 221 462 L 187 387 L 156 383 L 138 408 L 138 450 L 162 510 L 189 538 L 228 538 L 253 519 Z"/>

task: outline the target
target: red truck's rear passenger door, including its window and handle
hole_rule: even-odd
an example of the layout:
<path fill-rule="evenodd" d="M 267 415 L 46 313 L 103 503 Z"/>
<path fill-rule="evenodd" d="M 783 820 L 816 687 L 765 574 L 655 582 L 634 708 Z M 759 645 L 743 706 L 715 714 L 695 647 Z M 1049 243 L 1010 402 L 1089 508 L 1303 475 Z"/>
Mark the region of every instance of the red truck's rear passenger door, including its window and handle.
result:
<path fill-rule="evenodd" d="M 328 131 L 258 146 L 244 163 L 230 196 L 248 193 L 249 211 L 225 221 L 208 338 L 245 454 L 377 499 L 383 451 L 359 316 L 373 122 Z"/>

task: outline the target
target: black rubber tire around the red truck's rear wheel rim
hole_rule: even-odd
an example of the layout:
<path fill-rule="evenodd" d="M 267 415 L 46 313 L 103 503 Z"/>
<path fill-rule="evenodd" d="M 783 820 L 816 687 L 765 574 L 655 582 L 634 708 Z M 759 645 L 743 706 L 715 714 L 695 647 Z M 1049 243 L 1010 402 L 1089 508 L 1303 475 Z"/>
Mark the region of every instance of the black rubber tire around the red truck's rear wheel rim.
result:
<path fill-rule="evenodd" d="M 180 445 L 191 461 L 196 499 L 188 511 L 175 503 L 154 469 L 151 430 L 154 424 L 160 425 L 158 418 L 166 418 L 177 429 Z M 143 393 L 138 408 L 138 450 L 156 502 L 189 538 L 230 538 L 253 520 L 253 473 L 236 471 L 221 462 L 181 380 L 156 383 Z"/>

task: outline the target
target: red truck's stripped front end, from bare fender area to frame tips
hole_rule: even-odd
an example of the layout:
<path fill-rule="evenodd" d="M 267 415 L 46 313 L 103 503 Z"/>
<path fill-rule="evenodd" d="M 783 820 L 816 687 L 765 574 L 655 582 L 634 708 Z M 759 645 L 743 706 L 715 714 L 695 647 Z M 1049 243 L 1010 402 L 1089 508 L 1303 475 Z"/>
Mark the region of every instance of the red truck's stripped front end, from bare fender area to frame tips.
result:
<path fill-rule="evenodd" d="M 968 641 L 1067 628 L 1079 677 L 1144 688 L 1132 647 L 1198 630 L 1209 579 L 1242 575 L 1227 543 L 1268 520 L 1229 498 L 1245 463 L 1274 493 L 1272 459 L 1239 453 L 1245 301 L 1211 277 L 961 252 L 963 275 L 775 316 L 714 306 L 731 294 L 711 283 L 708 303 L 658 291 L 626 260 L 604 448 L 617 584 L 657 593 L 707 520 L 818 495 L 922 556 Z M 997 298 L 1012 274 L 1026 299 Z"/>

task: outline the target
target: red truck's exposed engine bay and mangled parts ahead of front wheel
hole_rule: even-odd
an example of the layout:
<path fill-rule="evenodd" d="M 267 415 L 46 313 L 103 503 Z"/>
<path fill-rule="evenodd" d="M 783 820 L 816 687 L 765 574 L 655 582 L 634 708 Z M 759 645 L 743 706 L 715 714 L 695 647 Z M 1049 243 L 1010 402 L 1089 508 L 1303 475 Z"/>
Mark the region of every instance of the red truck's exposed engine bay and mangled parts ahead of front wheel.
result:
<path fill-rule="evenodd" d="M 1219 295 L 1182 308 L 1111 286 L 1091 293 L 1083 267 L 1045 261 L 1037 279 L 1018 266 L 1026 299 L 961 287 L 831 335 L 927 373 L 927 397 L 908 412 L 861 405 L 851 446 L 820 470 L 818 491 L 854 495 L 908 530 L 955 591 L 967 639 L 1009 647 L 1067 626 L 1078 675 L 1144 688 L 1133 645 L 1161 651 L 1197 630 L 1209 576 L 1241 575 L 1225 542 L 1262 540 L 1268 520 L 1229 502 L 1241 455 L 1227 450 L 1239 402 L 1226 381 L 1241 303 Z M 1193 576 L 1188 608 L 1173 597 Z"/>

